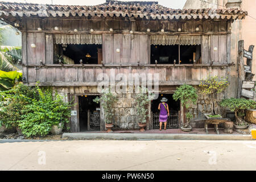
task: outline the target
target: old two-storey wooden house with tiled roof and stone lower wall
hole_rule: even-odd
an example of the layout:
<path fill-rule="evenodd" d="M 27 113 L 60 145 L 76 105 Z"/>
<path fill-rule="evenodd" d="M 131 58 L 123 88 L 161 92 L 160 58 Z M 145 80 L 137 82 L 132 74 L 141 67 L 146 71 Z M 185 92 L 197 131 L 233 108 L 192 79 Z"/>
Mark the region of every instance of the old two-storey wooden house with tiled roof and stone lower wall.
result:
<path fill-rule="evenodd" d="M 40 86 L 52 86 L 67 102 L 75 98 L 71 132 L 105 130 L 104 111 L 92 101 L 100 96 L 102 73 L 112 81 L 117 81 L 118 73 L 158 74 L 157 89 L 152 90 L 159 98 L 148 105 L 147 129 L 158 127 L 157 106 L 163 96 L 171 109 L 168 127 L 180 127 L 185 110 L 172 100 L 176 87 L 184 83 L 197 87 L 209 75 L 228 76 L 230 81 L 230 67 L 236 63 L 230 60 L 230 30 L 233 20 L 246 14 L 240 9 L 175 10 L 158 2 L 106 0 L 96 6 L 0 2 L 1 18 L 22 32 L 24 84 L 40 81 Z M 138 128 L 134 95 L 128 91 L 118 95 L 114 121 L 118 129 Z M 210 107 L 209 99 L 200 95 L 189 110 L 197 117 Z"/>

